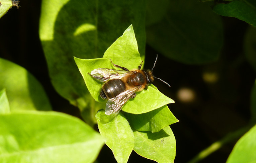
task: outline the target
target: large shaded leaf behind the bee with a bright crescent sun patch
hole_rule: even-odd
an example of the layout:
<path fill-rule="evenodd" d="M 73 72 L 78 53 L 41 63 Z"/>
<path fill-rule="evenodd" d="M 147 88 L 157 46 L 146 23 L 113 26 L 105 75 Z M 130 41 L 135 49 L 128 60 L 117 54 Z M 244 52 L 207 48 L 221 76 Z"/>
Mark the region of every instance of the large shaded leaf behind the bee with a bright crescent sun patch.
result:
<path fill-rule="evenodd" d="M 73 56 L 102 57 L 131 23 L 136 29 L 139 51 L 144 56 L 144 18 L 145 1 L 42 1 L 39 35 L 53 86 L 84 112 L 82 116 L 87 122 L 91 118 L 87 118 L 88 115 L 95 115 L 95 109 L 101 105 L 90 98 Z"/>

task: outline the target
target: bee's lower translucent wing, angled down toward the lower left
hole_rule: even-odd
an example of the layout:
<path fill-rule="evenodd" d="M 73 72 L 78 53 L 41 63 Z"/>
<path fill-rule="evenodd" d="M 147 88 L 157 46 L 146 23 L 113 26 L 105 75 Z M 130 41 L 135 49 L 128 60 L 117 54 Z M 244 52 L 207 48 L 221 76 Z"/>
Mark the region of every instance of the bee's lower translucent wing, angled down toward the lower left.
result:
<path fill-rule="evenodd" d="M 128 89 L 120 94 L 118 94 L 116 97 L 110 98 L 107 101 L 106 108 L 105 108 L 105 114 L 117 114 L 121 109 L 124 103 L 129 100 L 133 94 L 139 90 L 141 86 L 136 86 L 132 89 Z"/>

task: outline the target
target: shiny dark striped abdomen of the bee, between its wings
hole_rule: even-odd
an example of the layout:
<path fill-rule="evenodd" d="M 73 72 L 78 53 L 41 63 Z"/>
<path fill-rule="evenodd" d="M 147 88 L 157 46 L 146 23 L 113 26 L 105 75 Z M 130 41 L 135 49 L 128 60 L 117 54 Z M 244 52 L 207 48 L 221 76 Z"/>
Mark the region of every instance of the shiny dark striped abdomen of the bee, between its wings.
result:
<path fill-rule="evenodd" d="M 116 97 L 125 90 L 125 84 L 120 79 L 107 81 L 100 91 L 100 96 L 103 99 Z"/>

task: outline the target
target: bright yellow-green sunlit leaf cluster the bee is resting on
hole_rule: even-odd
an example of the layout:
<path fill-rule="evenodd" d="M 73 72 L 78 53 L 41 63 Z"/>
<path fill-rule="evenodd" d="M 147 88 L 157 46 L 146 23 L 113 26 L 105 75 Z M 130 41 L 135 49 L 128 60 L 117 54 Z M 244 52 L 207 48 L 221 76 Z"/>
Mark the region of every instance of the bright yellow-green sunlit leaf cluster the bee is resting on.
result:
<path fill-rule="evenodd" d="M 129 70 L 142 62 L 132 25 L 106 50 L 103 58 L 74 59 L 96 101 L 103 101 L 99 96 L 102 83 L 92 78 L 89 72 L 97 68 L 115 69 L 110 59 Z M 178 120 L 166 105 L 172 102 L 151 84 L 147 90 L 137 93 L 136 98 L 126 102 L 122 109 L 125 114 L 105 115 L 102 110 L 96 114 L 100 134 L 117 162 L 127 162 L 132 150 L 158 162 L 174 161 L 176 143 L 169 125 Z M 152 146 L 155 148 L 151 149 Z"/>

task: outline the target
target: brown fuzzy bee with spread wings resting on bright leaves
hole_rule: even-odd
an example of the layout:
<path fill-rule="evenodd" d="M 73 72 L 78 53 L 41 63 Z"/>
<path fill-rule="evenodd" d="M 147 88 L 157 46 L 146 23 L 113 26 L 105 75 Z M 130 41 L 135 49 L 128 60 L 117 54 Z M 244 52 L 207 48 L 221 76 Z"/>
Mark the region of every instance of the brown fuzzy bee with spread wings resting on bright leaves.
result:
<path fill-rule="evenodd" d="M 156 57 L 156 61 L 157 58 L 158 55 Z M 159 79 L 152 73 L 156 65 L 156 61 L 151 70 L 141 70 L 143 61 L 138 66 L 138 69 L 128 70 L 124 67 L 113 64 L 110 59 L 110 62 L 114 67 L 122 70 L 101 68 L 91 71 L 91 74 L 88 73 L 96 80 L 104 82 L 100 90 L 100 97 L 107 99 L 105 108 L 106 115 L 117 114 L 122 109 L 125 102 L 136 96 L 136 92 L 147 89 L 148 85 L 150 85 L 155 79 Z M 163 81 L 161 79 L 159 80 Z M 167 82 L 163 82 L 170 87 Z"/>

